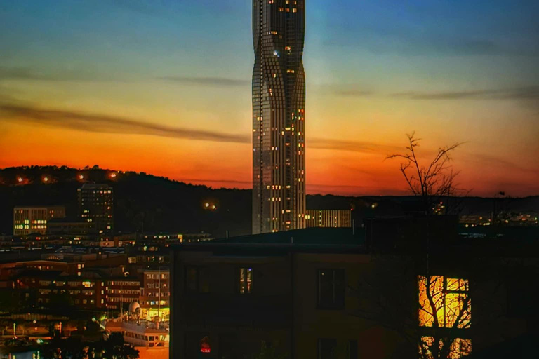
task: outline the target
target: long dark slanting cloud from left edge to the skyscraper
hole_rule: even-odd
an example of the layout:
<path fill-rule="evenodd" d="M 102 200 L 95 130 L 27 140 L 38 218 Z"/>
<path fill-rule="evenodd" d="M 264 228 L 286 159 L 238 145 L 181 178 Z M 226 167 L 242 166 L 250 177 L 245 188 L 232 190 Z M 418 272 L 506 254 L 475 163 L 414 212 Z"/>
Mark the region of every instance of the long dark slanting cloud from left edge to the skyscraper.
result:
<path fill-rule="evenodd" d="M 4 118 L 7 120 L 27 121 L 45 126 L 69 128 L 72 130 L 88 132 L 154 135 L 213 142 L 250 142 L 250 137 L 243 135 L 164 126 L 131 118 L 86 114 L 76 111 L 39 109 L 30 106 L 0 104 L 0 113 L 4 114 Z"/>

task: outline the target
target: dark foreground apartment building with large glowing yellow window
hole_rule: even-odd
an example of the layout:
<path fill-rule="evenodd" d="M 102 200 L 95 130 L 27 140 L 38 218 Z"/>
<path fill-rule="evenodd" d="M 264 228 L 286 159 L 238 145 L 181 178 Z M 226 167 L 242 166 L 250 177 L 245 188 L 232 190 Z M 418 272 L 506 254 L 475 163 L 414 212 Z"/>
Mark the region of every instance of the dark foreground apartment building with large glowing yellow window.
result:
<path fill-rule="evenodd" d="M 178 246 L 171 358 L 243 358 L 262 341 L 289 358 L 524 357 L 514 343 L 538 334 L 538 245 L 463 243 L 433 224 L 427 259 L 417 224 Z M 408 237 L 382 239 L 392 226 Z"/>

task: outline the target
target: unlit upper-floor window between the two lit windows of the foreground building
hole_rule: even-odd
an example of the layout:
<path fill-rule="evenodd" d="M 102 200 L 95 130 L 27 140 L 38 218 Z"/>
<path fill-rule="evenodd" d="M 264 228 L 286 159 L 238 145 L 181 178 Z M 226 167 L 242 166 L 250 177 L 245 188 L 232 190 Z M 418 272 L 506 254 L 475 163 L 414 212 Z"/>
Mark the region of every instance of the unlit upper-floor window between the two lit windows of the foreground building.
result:
<path fill-rule="evenodd" d="M 319 269 L 318 271 L 318 308 L 345 308 L 345 270 Z"/>

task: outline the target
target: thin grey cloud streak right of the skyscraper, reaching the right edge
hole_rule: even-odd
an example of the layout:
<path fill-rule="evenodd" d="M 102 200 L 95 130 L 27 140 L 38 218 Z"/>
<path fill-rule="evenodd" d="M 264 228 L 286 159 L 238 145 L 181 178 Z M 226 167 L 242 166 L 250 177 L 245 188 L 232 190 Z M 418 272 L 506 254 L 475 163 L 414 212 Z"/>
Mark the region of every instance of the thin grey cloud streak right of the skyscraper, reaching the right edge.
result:
<path fill-rule="evenodd" d="M 531 100 L 539 98 L 539 86 L 434 93 L 409 91 L 392 93 L 391 95 L 413 100 Z"/>

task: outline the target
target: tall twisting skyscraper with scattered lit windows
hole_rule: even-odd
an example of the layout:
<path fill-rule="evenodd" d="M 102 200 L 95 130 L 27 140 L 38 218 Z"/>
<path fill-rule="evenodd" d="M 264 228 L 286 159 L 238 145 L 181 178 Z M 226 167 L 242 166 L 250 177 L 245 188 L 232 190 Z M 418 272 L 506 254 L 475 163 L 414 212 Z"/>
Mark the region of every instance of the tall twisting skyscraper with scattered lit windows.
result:
<path fill-rule="evenodd" d="M 305 0 L 253 0 L 253 233 L 305 228 Z"/>

